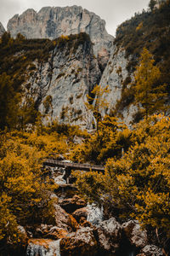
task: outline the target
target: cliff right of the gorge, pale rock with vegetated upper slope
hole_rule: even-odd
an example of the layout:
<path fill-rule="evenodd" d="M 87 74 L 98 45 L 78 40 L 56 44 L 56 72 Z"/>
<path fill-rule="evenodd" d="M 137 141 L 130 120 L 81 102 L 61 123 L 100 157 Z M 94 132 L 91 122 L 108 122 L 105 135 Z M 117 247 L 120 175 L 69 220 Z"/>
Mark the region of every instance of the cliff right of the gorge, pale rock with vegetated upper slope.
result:
<path fill-rule="evenodd" d="M 115 48 L 100 80 L 102 87 L 110 86 L 110 93 L 105 95 L 110 106 L 108 113 L 115 111 L 127 124 L 141 118 L 134 102 L 133 80 L 144 47 L 149 49 L 161 70 L 159 83 L 167 84 L 167 93 L 170 93 L 170 4 L 163 2 L 159 8 L 136 14 L 118 26 Z"/>

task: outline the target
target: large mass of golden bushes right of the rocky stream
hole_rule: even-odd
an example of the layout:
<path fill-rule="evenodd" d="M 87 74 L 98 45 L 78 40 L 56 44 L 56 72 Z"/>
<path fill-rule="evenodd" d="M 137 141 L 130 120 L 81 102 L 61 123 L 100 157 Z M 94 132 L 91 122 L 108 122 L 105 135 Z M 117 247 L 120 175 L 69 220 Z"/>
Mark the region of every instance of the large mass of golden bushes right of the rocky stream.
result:
<path fill-rule="evenodd" d="M 158 243 L 166 248 L 170 238 L 170 119 L 155 115 L 140 121 L 131 140 L 122 158 L 107 161 L 104 174 L 77 173 L 77 187 L 91 201 L 109 205 L 117 218 L 131 216 L 146 229 L 156 230 Z"/>

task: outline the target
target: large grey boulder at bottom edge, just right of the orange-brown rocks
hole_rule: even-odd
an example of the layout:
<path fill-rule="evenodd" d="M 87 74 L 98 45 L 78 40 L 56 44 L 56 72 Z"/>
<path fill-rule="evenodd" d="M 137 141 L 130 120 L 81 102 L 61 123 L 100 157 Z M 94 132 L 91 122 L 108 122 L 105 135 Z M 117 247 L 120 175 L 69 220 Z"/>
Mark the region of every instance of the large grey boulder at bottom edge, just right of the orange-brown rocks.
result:
<path fill-rule="evenodd" d="M 116 218 L 110 218 L 99 224 L 95 236 L 99 243 L 99 252 L 116 253 L 122 239 L 122 226 Z"/>

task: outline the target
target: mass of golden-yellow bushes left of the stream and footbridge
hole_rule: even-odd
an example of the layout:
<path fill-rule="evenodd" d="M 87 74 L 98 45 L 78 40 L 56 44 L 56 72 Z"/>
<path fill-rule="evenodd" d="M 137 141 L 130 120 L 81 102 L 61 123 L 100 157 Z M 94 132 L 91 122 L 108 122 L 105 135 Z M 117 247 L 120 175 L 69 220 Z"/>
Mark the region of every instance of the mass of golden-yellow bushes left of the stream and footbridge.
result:
<path fill-rule="evenodd" d="M 0 251 L 21 241 L 19 225 L 55 224 L 51 192 L 58 188 L 42 160 L 65 154 L 66 138 L 54 132 L 0 134 Z"/>

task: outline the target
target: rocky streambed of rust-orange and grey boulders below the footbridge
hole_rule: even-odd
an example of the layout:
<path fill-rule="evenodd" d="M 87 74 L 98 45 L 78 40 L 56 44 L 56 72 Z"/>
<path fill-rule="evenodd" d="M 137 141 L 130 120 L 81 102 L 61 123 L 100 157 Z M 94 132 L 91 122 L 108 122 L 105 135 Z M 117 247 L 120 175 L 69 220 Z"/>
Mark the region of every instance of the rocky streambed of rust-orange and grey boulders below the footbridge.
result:
<path fill-rule="evenodd" d="M 55 171 L 55 172 L 54 172 Z M 26 236 L 26 256 L 161 256 L 161 248 L 150 245 L 146 230 L 137 221 L 120 224 L 105 219 L 103 208 L 89 205 L 77 189 L 65 183 L 65 170 L 50 170 L 59 189 L 55 224 L 20 227 Z"/>

